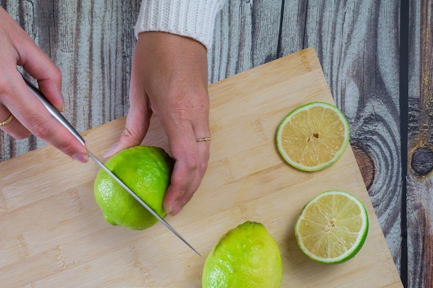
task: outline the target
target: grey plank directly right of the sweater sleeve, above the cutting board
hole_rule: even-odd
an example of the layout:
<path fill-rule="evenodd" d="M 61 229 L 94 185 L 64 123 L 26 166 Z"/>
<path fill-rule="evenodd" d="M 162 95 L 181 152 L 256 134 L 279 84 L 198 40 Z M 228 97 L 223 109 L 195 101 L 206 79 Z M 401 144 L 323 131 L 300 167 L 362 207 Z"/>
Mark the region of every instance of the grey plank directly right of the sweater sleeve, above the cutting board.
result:
<path fill-rule="evenodd" d="M 282 0 L 228 0 L 216 19 L 208 54 L 216 82 L 278 58 Z"/>

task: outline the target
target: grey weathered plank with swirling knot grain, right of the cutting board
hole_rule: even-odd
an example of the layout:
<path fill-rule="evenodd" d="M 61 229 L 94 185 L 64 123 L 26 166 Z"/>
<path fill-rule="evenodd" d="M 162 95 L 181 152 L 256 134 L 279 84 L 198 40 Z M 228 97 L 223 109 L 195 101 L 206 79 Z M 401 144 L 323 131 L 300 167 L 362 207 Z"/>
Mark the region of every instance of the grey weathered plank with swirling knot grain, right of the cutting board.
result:
<path fill-rule="evenodd" d="M 282 55 L 308 46 L 317 51 L 335 102 L 349 120 L 351 145 L 374 164 L 365 181 L 399 267 L 398 1 L 295 2 L 285 1 Z M 295 12 L 304 9 L 305 21 Z M 304 30 L 294 30 L 296 25 Z M 371 174 L 374 179 L 367 179 Z"/>

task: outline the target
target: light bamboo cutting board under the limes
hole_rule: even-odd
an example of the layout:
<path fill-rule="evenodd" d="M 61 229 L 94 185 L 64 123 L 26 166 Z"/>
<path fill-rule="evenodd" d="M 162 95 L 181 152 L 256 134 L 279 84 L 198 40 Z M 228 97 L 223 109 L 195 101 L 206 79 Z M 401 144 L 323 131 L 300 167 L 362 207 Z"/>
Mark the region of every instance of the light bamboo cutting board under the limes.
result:
<path fill-rule="evenodd" d="M 253 68 L 209 87 L 211 156 L 194 198 L 145 231 L 113 227 L 93 197 L 98 166 L 46 146 L 0 164 L 2 287 L 201 287 L 206 256 L 223 233 L 261 222 L 282 251 L 282 287 L 403 287 L 349 147 L 329 169 L 297 171 L 277 152 L 279 122 L 311 101 L 333 103 L 313 49 Z M 125 118 L 83 133 L 97 155 L 116 140 Z M 168 151 L 158 118 L 143 144 Z M 295 220 L 314 195 L 349 191 L 365 203 L 369 236 L 358 255 L 320 265 L 297 247 Z"/>

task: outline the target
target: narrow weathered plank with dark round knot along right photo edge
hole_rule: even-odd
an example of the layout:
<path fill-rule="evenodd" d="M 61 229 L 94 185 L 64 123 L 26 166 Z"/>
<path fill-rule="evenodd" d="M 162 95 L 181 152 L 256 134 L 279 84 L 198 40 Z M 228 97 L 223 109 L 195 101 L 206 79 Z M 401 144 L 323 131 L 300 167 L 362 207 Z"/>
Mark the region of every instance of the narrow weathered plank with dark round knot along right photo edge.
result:
<path fill-rule="evenodd" d="M 410 1 L 408 287 L 433 286 L 433 2 Z"/>

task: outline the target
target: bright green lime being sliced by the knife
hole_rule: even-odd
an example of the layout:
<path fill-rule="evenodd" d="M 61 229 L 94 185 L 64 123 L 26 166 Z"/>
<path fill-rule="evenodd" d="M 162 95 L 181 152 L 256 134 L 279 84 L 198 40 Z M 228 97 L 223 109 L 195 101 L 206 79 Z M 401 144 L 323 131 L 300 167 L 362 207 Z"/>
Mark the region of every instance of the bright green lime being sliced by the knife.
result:
<path fill-rule="evenodd" d="M 163 148 L 134 146 L 113 155 L 105 166 L 164 218 L 163 201 L 173 164 L 172 157 Z M 110 224 L 143 230 L 158 222 L 154 215 L 102 169 L 96 176 L 94 193 L 105 220 Z"/>

